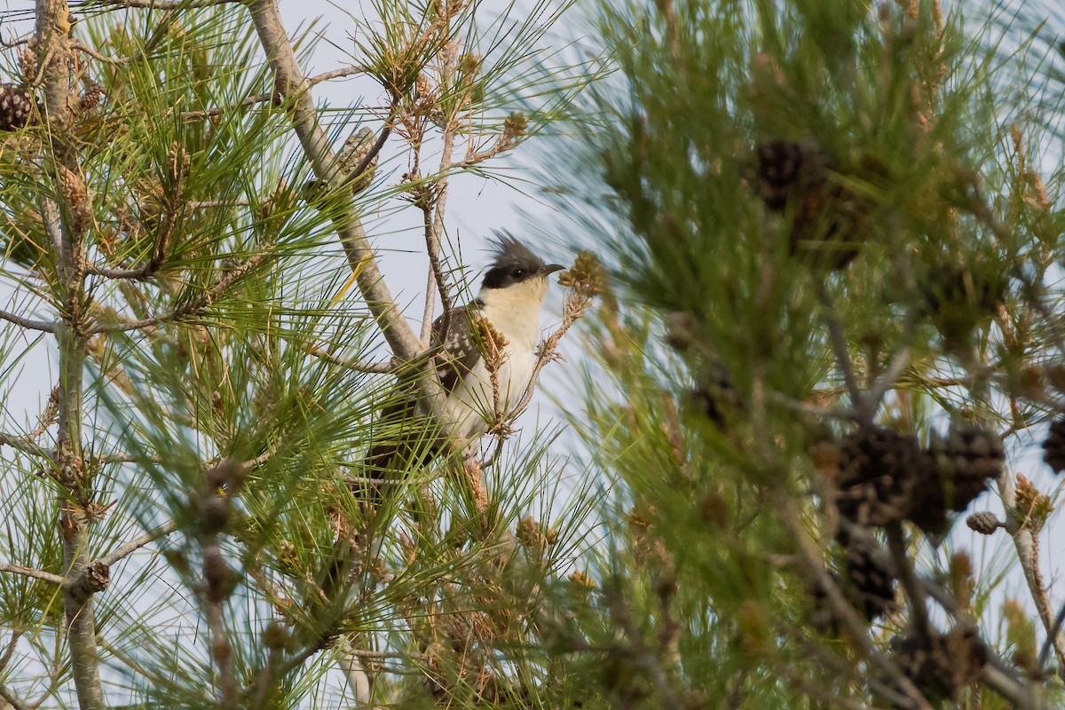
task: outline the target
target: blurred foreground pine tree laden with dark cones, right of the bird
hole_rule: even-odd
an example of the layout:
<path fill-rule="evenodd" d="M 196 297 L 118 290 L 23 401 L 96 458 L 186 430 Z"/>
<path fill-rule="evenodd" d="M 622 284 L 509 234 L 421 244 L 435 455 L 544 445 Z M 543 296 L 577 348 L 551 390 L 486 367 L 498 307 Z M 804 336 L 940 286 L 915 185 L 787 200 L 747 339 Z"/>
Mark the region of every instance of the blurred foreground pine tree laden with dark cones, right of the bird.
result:
<path fill-rule="evenodd" d="M 1046 18 L 585 7 L 612 71 L 545 170 L 611 266 L 571 417 L 609 534 L 557 597 L 579 707 L 1058 707 L 1060 486 L 1017 472 L 1060 467 L 1065 406 Z"/>

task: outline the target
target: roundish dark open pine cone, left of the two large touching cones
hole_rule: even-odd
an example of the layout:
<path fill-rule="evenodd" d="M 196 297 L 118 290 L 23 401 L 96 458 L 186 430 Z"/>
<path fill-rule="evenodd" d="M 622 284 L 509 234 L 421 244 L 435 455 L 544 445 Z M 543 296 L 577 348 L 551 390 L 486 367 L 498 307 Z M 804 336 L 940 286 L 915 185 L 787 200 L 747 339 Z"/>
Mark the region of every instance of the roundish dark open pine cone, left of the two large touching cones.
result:
<path fill-rule="evenodd" d="M 906 517 L 925 466 L 917 437 L 858 429 L 840 444 L 839 513 L 858 525 L 885 526 Z"/>

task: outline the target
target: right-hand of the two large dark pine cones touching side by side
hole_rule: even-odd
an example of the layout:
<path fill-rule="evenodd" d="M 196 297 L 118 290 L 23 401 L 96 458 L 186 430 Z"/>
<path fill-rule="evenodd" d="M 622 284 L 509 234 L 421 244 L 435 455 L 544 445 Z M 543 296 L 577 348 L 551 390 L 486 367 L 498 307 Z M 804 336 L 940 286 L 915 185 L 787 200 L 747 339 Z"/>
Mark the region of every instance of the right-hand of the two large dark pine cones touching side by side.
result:
<path fill-rule="evenodd" d="M 910 519 L 924 532 L 941 534 L 949 527 L 948 511 L 965 512 L 1001 473 L 1005 449 L 996 433 L 962 425 L 952 426 L 946 440 L 934 437 L 929 457 L 933 466 L 918 483 Z"/>

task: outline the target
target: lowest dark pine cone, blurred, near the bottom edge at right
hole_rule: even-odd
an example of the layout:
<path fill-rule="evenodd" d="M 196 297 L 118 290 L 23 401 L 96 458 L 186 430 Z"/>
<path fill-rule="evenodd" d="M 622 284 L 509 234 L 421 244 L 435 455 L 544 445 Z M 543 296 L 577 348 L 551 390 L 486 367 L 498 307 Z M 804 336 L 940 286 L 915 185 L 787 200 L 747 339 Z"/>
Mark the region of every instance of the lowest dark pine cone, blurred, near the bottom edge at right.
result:
<path fill-rule="evenodd" d="M 941 634 L 911 629 L 891 640 L 894 660 L 933 707 L 956 701 L 958 691 L 980 678 L 987 651 L 972 629 L 954 627 Z"/>

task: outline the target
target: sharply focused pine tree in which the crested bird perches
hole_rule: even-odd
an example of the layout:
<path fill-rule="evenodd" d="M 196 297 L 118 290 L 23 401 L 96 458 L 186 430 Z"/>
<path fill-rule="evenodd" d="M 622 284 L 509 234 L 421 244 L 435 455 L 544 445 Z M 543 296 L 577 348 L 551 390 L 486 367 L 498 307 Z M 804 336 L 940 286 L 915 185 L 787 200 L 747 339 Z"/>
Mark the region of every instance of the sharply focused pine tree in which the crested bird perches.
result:
<path fill-rule="evenodd" d="M 468 297 L 450 180 L 494 176 L 587 81 L 552 59 L 546 3 L 498 10 L 375 3 L 350 18 L 350 66 L 315 77 L 314 35 L 290 36 L 276 0 L 5 14 L 35 26 L 0 90 L 0 362 L 9 382 L 27 357 L 55 373 L 0 428 L 7 704 L 539 696 L 542 654 L 502 649 L 588 512 L 551 505 L 551 432 L 501 416 L 484 450 L 448 439 L 383 499 L 360 494 L 396 376 L 430 415 L 439 398 L 428 325 Z M 376 85 L 365 104 L 315 102 L 353 76 Z M 375 251 L 396 213 L 430 265 L 420 330 Z M 592 297 L 581 263 L 541 367 Z"/>

